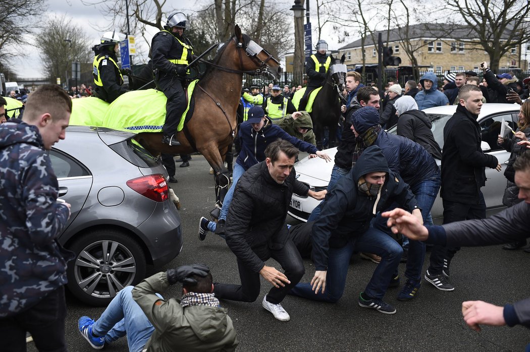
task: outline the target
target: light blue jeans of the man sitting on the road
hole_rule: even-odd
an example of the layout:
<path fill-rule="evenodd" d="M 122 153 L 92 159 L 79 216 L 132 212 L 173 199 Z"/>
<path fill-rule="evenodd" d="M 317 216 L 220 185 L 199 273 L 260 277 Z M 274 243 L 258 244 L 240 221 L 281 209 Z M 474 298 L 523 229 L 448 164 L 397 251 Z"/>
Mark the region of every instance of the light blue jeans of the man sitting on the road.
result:
<path fill-rule="evenodd" d="M 95 335 L 104 336 L 107 343 L 127 335 L 129 351 L 139 352 L 147 344 L 155 328 L 133 300 L 132 291 L 133 286 L 127 286 L 118 292 L 101 317 L 96 320 L 92 331 Z"/>

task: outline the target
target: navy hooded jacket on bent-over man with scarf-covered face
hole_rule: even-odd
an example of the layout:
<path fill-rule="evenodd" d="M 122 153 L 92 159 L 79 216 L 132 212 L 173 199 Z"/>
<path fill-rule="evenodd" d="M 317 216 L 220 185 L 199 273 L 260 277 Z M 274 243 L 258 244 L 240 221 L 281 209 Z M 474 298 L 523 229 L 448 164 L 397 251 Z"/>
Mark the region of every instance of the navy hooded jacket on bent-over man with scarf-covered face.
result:
<path fill-rule="evenodd" d="M 368 128 L 379 124 L 379 112 L 375 107 L 365 106 L 357 110 L 351 119 L 357 133 L 363 134 Z M 427 150 L 408 138 L 381 130 L 375 145 L 383 150 L 388 167 L 409 185 L 428 179 L 439 170 L 436 160 Z"/>

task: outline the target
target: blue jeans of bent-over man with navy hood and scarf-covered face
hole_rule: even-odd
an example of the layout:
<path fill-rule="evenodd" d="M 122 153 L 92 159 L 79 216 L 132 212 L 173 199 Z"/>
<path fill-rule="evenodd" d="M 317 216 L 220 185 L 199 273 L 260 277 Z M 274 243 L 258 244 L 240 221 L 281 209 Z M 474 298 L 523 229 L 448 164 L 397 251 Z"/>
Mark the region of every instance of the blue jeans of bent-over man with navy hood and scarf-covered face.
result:
<path fill-rule="evenodd" d="M 410 185 L 410 190 L 416 197 L 418 207 L 421 209 L 421 216 L 423 224 L 432 225 L 432 217 L 430 210 L 432 204 L 436 200 L 438 191 L 440 189 L 440 171 L 431 177 L 422 180 L 414 185 Z M 397 204 L 393 204 L 393 209 Z M 374 219 L 374 226 L 380 230 L 390 233 L 390 229 L 386 227 L 388 219 L 382 218 L 381 214 L 377 214 Z M 425 243 L 421 241 L 409 240 L 409 256 L 407 258 L 407 268 L 405 269 L 405 277 L 410 281 L 419 283 L 421 281 L 421 271 L 423 269 L 423 260 L 425 260 Z"/>

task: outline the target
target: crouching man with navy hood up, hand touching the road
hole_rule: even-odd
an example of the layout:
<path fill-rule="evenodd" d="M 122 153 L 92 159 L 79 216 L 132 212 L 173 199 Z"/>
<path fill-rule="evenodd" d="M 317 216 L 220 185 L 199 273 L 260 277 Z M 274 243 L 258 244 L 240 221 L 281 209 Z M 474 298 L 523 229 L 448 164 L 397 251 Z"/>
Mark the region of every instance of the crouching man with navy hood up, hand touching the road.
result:
<path fill-rule="evenodd" d="M 395 308 L 384 302 L 383 296 L 398 269 L 403 250 L 385 232 L 370 225 L 377 213 L 394 202 L 421 219 L 409 186 L 388 168 L 381 148 L 368 147 L 351 171 L 326 195 L 322 212 L 313 225 L 315 275 L 311 283 L 297 284 L 290 293 L 337 302 L 344 292 L 351 255 L 354 250 L 366 251 L 381 256 L 381 263 L 360 293 L 358 304 L 394 314 Z"/>

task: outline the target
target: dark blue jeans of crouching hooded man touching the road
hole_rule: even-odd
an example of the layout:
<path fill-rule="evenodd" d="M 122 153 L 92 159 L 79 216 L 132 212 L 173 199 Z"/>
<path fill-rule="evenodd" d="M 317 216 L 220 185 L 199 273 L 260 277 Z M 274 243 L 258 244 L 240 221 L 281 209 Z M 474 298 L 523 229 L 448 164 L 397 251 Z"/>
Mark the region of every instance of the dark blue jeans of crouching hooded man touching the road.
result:
<path fill-rule="evenodd" d="M 371 298 L 383 299 L 388 283 L 390 283 L 393 273 L 398 269 L 403 249 L 385 232 L 373 227 L 370 227 L 360 237 L 351 238 L 346 246 L 329 249 L 324 293 L 320 291 L 315 294 L 310 283 L 299 283 L 291 290 L 290 294 L 315 301 L 337 302 L 344 293 L 346 275 L 354 250 L 381 256 L 381 263 L 376 266 L 364 293 Z"/>

